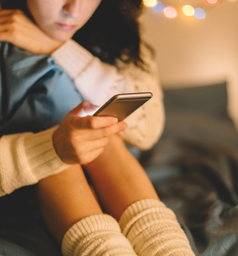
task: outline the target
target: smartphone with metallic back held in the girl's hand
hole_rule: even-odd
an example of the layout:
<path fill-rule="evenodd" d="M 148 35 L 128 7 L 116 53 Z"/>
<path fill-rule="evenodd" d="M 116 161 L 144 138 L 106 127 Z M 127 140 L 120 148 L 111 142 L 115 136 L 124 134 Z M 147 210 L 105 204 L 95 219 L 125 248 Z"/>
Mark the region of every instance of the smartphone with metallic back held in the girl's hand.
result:
<path fill-rule="evenodd" d="M 151 92 L 117 94 L 112 96 L 93 115 L 98 117 L 117 117 L 118 121 L 122 121 L 137 110 L 137 108 L 145 104 L 152 96 Z"/>

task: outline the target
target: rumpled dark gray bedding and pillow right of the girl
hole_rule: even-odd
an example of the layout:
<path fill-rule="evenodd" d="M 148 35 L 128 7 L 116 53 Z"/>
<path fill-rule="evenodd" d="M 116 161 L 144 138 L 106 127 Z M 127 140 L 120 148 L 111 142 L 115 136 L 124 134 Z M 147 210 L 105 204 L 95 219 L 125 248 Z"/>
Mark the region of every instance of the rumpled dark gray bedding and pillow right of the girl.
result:
<path fill-rule="evenodd" d="M 164 102 L 164 134 L 141 162 L 196 255 L 238 255 L 238 134 L 226 85 L 165 90 Z"/>

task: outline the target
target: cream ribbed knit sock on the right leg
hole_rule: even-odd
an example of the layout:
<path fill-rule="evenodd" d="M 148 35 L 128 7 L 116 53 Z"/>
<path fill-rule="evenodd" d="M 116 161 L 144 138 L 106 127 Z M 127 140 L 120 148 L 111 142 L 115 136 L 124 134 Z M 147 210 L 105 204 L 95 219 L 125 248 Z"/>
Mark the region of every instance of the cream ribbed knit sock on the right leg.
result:
<path fill-rule="evenodd" d="M 195 256 L 175 214 L 158 200 L 130 205 L 119 224 L 139 256 Z"/>

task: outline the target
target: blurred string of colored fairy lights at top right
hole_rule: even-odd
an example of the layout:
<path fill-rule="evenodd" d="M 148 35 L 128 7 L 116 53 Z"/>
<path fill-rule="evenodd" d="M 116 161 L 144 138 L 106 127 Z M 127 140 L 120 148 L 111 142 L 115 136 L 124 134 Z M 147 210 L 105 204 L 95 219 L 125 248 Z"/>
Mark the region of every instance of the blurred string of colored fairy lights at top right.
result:
<path fill-rule="evenodd" d="M 160 2 L 161 1 L 161 2 Z M 187 0 L 188 1 L 188 0 Z M 221 2 L 225 2 L 227 0 L 203 0 L 197 1 L 195 6 L 192 5 L 180 5 L 179 7 L 179 0 L 143 0 L 143 3 L 148 6 L 152 7 L 156 13 L 164 13 L 164 15 L 168 18 L 174 18 L 177 16 L 178 11 L 183 13 L 186 16 L 193 16 L 198 18 L 199 20 L 206 17 L 205 10 L 209 10 Z M 236 0 L 229 0 L 236 1 Z M 166 2 L 170 2 L 171 5 L 166 6 Z M 185 2 L 185 1 L 182 1 Z M 200 5 L 200 6 L 199 6 Z M 201 5 L 203 8 L 201 8 Z"/>

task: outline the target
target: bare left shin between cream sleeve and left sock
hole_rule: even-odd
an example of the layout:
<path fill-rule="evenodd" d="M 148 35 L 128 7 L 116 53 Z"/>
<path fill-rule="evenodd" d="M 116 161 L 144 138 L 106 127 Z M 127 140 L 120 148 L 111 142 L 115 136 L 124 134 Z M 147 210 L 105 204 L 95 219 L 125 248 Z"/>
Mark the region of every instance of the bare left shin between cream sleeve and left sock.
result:
<path fill-rule="evenodd" d="M 40 180 L 36 189 L 45 222 L 60 244 L 73 224 L 84 217 L 102 214 L 79 165 Z"/>

